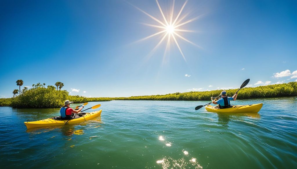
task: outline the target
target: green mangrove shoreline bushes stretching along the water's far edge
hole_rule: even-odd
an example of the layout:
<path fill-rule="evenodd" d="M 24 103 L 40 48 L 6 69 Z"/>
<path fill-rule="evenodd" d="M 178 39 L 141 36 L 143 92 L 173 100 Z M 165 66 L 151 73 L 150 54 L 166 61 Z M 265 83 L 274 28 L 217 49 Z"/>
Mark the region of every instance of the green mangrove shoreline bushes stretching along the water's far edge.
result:
<path fill-rule="evenodd" d="M 228 96 L 232 96 L 238 89 L 226 90 Z M 8 99 L 0 99 L 0 106 L 12 106 L 17 108 L 58 108 L 63 106 L 65 100 L 75 103 L 99 102 L 110 100 L 210 100 L 212 96 L 218 96 L 222 90 L 190 91 L 185 93 L 173 93 L 151 96 L 131 97 L 83 97 L 70 96 L 66 90 L 57 91 L 54 87 L 45 88 L 39 86 L 23 91 L 22 94 Z M 297 96 L 297 82 L 258 86 L 254 88 L 242 88 L 237 99 L 255 99 L 268 97 Z"/>

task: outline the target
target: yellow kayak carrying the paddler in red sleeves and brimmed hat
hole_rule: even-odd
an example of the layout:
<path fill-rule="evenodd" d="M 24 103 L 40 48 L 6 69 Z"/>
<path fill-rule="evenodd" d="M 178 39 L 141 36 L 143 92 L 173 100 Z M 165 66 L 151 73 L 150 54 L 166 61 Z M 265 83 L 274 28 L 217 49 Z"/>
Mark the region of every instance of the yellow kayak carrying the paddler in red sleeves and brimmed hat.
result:
<path fill-rule="evenodd" d="M 68 124 L 76 124 L 81 123 L 87 120 L 91 120 L 99 115 L 101 115 L 102 110 L 95 111 L 95 112 L 89 112 L 89 113 L 78 113 L 76 116 L 77 118 L 71 119 L 71 120 L 59 120 L 59 117 L 53 117 L 53 118 L 47 118 L 44 120 L 39 121 L 31 121 L 31 122 L 24 122 L 27 129 L 30 128 L 37 128 L 37 127 L 49 127 L 49 126 L 57 126 L 57 125 L 66 125 Z"/>

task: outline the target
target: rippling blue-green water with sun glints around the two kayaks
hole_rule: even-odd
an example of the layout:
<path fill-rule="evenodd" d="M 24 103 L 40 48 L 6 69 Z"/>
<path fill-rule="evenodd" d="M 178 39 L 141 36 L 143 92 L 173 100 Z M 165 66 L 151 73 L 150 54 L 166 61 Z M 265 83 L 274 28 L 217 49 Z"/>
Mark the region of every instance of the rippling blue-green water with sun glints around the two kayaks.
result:
<path fill-rule="evenodd" d="M 1 168 L 297 167 L 297 97 L 233 102 L 263 103 L 258 114 L 194 110 L 206 103 L 90 102 L 101 117 L 32 130 L 23 122 L 59 109 L 0 107 Z"/>

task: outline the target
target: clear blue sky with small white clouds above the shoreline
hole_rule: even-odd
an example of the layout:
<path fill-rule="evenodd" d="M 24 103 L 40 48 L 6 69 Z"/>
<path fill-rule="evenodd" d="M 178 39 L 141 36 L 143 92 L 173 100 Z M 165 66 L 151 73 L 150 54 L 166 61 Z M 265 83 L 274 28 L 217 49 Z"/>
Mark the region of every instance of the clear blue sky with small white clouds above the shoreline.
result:
<path fill-rule="evenodd" d="M 185 1 L 176 1 L 174 17 Z M 159 0 L 168 18 L 173 1 Z M 164 57 L 167 37 L 139 9 L 164 21 L 156 1 L 1 1 L 0 97 L 33 83 L 72 95 L 137 96 L 287 83 L 297 79 L 296 1 L 189 0 L 181 17 L 197 20 Z M 181 18 L 180 17 L 180 18 Z M 186 76 L 187 75 L 187 76 Z M 75 89 L 75 90 L 73 90 Z M 73 90 L 73 91 L 72 91 Z M 79 91 L 79 92 L 77 92 Z M 83 92 L 86 91 L 86 92 Z"/>

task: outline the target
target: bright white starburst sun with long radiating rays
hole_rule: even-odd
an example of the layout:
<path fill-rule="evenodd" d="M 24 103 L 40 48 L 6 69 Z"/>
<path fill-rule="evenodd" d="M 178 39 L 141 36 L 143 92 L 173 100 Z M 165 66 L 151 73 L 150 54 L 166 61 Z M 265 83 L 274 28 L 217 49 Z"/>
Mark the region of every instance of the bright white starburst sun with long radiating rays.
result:
<path fill-rule="evenodd" d="M 195 32 L 193 30 L 186 30 L 186 29 L 183 29 L 181 28 L 183 25 L 186 25 L 187 23 L 190 23 L 194 20 L 197 20 L 198 18 L 200 18 L 202 15 L 198 16 L 198 17 L 195 17 L 195 18 L 192 18 L 190 20 L 185 20 L 185 18 L 187 17 L 187 14 L 185 15 L 182 15 L 182 11 L 184 9 L 184 7 L 186 6 L 188 0 L 184 2 L 183 6 L 181 7 L 181 9 L 179 10 L 179 12 L 177 13 L 177 15 L 175 14 L 174 12 L 174 4 L 175 4 L 175 0 L 173 0 L 173 5 L 170 9 L 170 11 L 166 12 L 166 13 L 170 13 L 169 17 L 165 17 L 164 13 L 163 13 L 163 10 L 159 4 L 159 1 L 156 0 L 156 3 L 157 3 L 157 6 L 160 10 L 160 13 L 164 19 L 164 21 L 160 21 L 158 20 L 157 18 L 153 17 L 152 15 L 148 14 L 147 12 L 143 11 L 142 9 L 134 6 L 135 8 L 137 8 L 138 10 L 140 10 L 141 12 L 143 12 L 144 14 L 146 14 L 147 16 L 149 16 L 151 19 L 153 19 L 154 21 L 157 22 L 158 25 L 153 25 L 153 24 L 147 24 L 147 23 L 142 23 L 143 25 L 146 25 L 146 26 L 150 26 L 150 27 L 154 27 L 154 28 L 158 28 L 159 31 L 157 33 L 154 33 L 150 36 L 147 36 L 145 38 L 142 38 L 140 39 L 139 41 L 143 41 L 143 40 L 146 40 L 146 39 L 149 39 L 153 36 L 157 36 L 157 35 L 162 35 L 162 38 L 161 40 L 159 41 L 159 43 L 154 47 L 154 49 L 152 49 L 151 53 L 153 53 L 160 44 L 162 44 L 162 42 L 165 40 L 165 38 L 167 38 L 167 45 L 166 45 L 166 48 L 165 48 L 165 51 L 164 51 L 164 56 L 166 55 L 166 51 L 169 49 L 169 46 L 170 46 L 170 42 L 171 41 L 174 41 L 174 43 L 176 44 L 179 52 L 181 53 L 182 57 L 184 58 L 185 61 L 186 58 L 184 56 L 184 53 L 182 52 L 181 50 L 181 47 L 179 46 L 178 44 L 178 41 L 177 41 L 177 38 L 178 39 L 182 39 L 192 45 L 195 45 L 199 48 L 201 48 L 200 46 L 194 44 L 193 42 L 189 41 L 188 39 L 184 38 L 183 36 L 181 36 L 181 32 Z M 131 4 L 132 5 L 132 4 Z M 175 19 L 173 20 L 173 16 L 175 16 Z"/>

